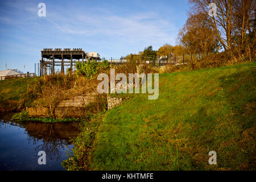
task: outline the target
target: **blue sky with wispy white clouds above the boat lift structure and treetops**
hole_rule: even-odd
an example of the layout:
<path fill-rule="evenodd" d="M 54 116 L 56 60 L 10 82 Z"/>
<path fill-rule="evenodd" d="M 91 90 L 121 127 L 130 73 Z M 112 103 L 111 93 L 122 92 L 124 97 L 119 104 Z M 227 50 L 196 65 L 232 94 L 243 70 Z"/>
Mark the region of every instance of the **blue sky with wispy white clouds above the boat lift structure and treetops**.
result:
<path fill-rule="evenodd" d="M 38 4 L 46 3 L 46 17 Z M 176 44 L 187 19 L 179 1 L 0 1 L 0 70 L 34 72 L 43 48 L 82 48 L 118 59 Z M 25 70 L 24 70 L 25 65 Z"/>

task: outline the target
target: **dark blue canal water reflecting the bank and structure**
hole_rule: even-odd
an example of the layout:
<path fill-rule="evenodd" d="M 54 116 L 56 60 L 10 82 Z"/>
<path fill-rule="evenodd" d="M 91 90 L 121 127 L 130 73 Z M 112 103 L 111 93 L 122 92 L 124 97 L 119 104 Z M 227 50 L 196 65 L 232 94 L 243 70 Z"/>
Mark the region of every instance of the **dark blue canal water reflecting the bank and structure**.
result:
<path fill-rule="evenodd" d="M 16 122 L 11 115 L 0 114 L 0 171 L 64 170 L 70 139 L 79 133 L 75 124 Z M 46 152 L 46 164 L 38 163 L 39 151 Z"/>

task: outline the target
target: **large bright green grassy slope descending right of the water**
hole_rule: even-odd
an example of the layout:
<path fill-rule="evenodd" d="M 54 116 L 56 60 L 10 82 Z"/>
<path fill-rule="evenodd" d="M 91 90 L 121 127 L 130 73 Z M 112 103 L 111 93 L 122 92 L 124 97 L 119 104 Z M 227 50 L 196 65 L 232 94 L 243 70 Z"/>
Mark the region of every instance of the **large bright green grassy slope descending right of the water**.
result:
<path fill-rule="evenodd" d="M 92 169 L 255 170 L 256 64 L 165 73 L 158 100 L 138 94 L 107 111 Z M 217 165 L 209 165 L 209 151 Z"/>

